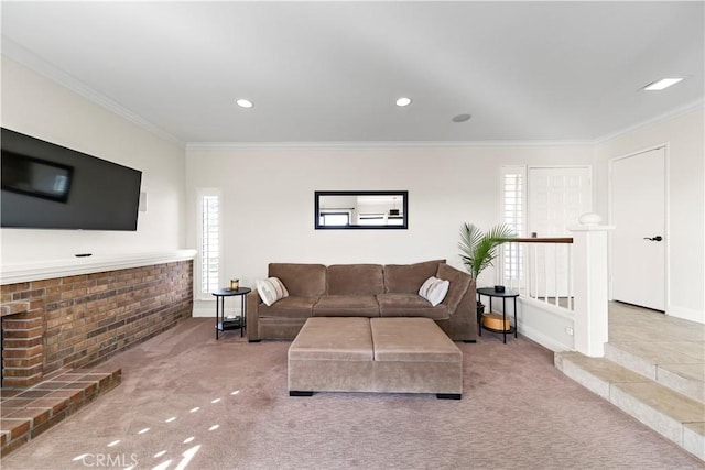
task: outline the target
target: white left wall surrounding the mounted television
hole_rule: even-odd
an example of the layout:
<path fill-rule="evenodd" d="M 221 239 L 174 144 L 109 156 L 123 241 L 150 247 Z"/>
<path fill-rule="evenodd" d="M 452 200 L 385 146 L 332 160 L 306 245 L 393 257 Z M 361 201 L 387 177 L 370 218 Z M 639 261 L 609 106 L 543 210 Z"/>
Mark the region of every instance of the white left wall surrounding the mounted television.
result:
<path fill-rule="evenodd" d="M 2 56 L 2 127 L 142 171 L 135 232 L 2 229 L 2 265 L 185 248 L 185 151 Z"/>

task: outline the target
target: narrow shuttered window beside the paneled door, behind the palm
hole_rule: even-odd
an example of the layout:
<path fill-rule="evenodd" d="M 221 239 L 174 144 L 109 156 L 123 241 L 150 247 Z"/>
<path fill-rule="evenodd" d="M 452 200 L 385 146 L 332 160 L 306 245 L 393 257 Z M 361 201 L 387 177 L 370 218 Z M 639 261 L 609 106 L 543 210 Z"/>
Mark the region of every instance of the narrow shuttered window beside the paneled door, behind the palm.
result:
<path fill-rule="evenodd" d="M 512 228 L 518 237 L 523 237 L 527 219 L 527 168 L 524 166 L 502 167 L 502 222 Z M 521 280 L 522 255 L 520 243 L 502 245 L 505 280 Z"/>

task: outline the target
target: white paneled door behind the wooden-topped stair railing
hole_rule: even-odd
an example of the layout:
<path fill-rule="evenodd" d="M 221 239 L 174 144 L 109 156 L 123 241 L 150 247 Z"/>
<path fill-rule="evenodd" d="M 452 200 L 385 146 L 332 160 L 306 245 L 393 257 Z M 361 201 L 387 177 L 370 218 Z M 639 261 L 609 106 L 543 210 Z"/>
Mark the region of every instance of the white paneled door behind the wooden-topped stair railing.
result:
<path fill-rule="evenodd" d="M 582 214 L 593 208 L 589 167 L 529 168 L 529 233 L 538 237 L 567 237 Z M 568 286 L 568 244 L 545 243 L 536 250 L 536 266 L 531 294 L 539 297 L 565 297 Z"/>

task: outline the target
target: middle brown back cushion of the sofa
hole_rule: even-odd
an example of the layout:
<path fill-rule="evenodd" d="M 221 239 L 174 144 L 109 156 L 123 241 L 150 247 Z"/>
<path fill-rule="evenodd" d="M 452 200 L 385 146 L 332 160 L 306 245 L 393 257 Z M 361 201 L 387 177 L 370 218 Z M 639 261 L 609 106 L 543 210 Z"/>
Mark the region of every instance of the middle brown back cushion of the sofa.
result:
<path fill-rule="evenodd" d="M 332 264 L 328 295 L 375 295 L 384 292 L 381 264 Z"/>

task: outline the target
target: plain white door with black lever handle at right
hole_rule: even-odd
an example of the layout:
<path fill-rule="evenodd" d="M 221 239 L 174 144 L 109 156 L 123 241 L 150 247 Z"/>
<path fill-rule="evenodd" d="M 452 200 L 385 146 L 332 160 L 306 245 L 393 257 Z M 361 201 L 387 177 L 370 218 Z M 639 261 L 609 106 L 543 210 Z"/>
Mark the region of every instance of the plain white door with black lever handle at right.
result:
<path fill-rule="evenodd" d="M 665 147 L 611 161 L 612 299 L 665 310 Z"/>

